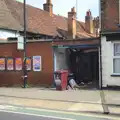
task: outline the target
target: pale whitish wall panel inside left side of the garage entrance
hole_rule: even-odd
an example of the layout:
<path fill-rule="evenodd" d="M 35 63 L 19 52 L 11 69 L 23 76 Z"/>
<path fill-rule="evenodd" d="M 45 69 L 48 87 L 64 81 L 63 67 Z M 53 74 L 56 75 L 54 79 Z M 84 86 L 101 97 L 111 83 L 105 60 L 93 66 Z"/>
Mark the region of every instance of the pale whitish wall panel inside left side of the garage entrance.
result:
<path fill-rule="evenodd" d="M 56 48 L 54 49 L 54 70 L 66 70 L 68 69 L 67 65 L 67 56 L 65 48 Z"/>

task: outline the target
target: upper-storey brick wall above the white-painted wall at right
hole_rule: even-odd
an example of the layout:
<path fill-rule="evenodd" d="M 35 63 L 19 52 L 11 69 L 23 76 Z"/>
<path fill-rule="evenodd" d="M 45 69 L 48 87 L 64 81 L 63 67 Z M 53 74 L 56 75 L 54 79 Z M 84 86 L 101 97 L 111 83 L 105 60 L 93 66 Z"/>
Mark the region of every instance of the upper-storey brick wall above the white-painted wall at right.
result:
<path fill-rule="evenodd" d="M 118 30 L 119 0 L 101 0 L 101 29 L 102 31 Z"/>

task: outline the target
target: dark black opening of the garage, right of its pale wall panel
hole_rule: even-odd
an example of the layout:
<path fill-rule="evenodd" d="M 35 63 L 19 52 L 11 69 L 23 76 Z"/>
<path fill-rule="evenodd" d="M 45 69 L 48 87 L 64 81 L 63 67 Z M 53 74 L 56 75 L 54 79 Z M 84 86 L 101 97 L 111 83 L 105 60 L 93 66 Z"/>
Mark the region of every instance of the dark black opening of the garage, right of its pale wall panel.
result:
<path fill-rule="evenodd" d="M 98 88 L 99 57 L 98 49 L 68 48 L 69 70 L 81 88 Z"/>

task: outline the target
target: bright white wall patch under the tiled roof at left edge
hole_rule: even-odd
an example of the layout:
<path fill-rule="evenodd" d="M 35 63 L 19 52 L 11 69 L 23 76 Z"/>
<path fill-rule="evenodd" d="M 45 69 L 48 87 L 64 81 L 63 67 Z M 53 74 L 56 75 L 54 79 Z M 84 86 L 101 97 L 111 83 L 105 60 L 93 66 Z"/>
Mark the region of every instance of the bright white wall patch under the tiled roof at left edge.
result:
<path fill-rule="evenodd" d="M 0 29 L 0 39 L 7 39 L 8 37 L 18 37 L 18 36 L 19 33 Z"/>

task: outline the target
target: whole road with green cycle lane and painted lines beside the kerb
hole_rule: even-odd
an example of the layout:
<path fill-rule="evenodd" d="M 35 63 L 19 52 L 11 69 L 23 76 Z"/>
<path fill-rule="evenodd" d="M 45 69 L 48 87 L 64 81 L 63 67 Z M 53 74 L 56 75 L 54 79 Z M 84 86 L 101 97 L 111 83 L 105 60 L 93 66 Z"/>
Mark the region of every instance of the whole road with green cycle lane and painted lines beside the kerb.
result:
<path fill-rule="evenodd" d="M 117 117 L 118 118 L 118 117 Z M 119 120 L 109 115 L 85 114 L 30 108 L 23 106 L 0 105 L 0 120 Z"/>

